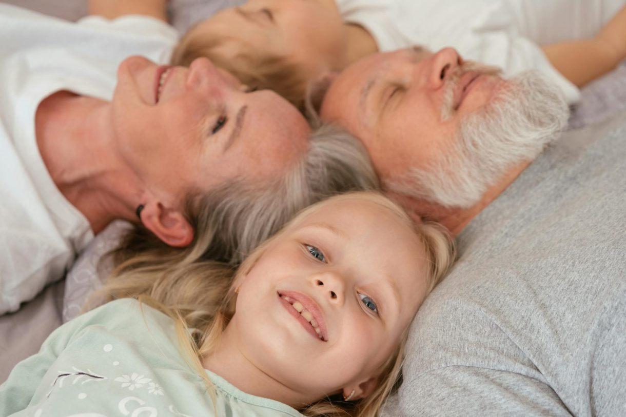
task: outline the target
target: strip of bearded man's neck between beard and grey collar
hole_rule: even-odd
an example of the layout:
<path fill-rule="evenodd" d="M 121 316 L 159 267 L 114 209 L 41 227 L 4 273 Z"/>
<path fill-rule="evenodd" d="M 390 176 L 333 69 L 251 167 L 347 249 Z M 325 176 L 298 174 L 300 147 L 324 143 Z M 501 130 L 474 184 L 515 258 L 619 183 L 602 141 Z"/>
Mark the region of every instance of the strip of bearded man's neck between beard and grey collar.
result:
<path fill-rule="evenodd" d="M 531 161 L 526 161 L 520 163 L 515 168 L 512 168 L 506 175 L 504 175 L 500 182 L 492 185 L 488 190 L 483 193 L 483 197 L 481 200 L 475 205 L 468 207 L 466 209 L 458 209 L 458 208 L 448 208 L 438 205 L 436 203 L 426 202 L 424 200 L 416 200 L 410 197 L 400 197 L 398 195 L 394 195 L 394 198 L 398 198 L 398 200 L 407 207 L 411 214 L 416 217 L 416 219 L 425 219 L 425 220 L 433 220 L 444 225 L 451 234 L 456 237 L 458 236 L 463 229 L 473 220 L 477 215 L 479 215 L 483 210 L 488 207 L 501 193 L 503 193 L 506 188 L 508 188 L 511 183 L 515 181 L 515 179 L 522 173 L 528 165 L 530 165 Z"/>

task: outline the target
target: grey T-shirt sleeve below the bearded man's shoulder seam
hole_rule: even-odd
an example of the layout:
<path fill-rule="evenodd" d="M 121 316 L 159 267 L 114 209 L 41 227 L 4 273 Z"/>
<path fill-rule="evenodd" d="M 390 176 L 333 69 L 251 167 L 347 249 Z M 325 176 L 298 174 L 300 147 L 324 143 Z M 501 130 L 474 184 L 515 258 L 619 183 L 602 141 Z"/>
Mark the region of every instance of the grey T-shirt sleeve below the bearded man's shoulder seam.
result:
<path fill-rule="evenodd" d="M 570 416 L 545 383 L 473 366 L 434 369 L 399 390 L 403 416 Z"/>

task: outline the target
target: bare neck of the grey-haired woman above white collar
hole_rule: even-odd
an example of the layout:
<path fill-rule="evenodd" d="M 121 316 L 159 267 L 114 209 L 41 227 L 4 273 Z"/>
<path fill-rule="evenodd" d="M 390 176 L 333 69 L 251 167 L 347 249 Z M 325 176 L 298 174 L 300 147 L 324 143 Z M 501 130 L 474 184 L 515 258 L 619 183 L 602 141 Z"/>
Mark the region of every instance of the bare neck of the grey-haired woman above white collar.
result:
<path fill-rule="evenodd" d="M 138 187 L 116 152 L 110 103 L 59 91 L 36 112 L 39 153 L 59 191 L 94 233 L 111 220 L 133 219 Z"/>

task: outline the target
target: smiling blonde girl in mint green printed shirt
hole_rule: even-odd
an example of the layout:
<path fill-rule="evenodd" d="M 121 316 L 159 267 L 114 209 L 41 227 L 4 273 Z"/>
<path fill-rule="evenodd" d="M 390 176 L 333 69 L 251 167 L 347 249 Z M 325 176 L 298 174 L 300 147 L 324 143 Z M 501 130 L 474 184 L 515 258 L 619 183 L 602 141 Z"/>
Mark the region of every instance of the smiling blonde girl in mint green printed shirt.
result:
<path fill-rule="evenodd" d="M 0 414 L 375 416 L 452 259 L 446 232 L 387 198 L 330 198 L 236 273 L 201 264 L 161 299 L 61 327 L 0 386 Z"/>

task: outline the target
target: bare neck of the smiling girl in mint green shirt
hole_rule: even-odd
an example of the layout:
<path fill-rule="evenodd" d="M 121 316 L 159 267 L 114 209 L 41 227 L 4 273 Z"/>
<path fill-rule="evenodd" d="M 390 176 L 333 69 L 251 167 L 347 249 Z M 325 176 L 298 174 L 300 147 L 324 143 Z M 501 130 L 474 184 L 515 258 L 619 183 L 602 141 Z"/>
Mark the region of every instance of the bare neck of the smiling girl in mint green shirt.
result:
<path fill-rule="evenodd" d="M 294 408 L 313 401 L 306 398 L 310 393 L 297 393 L 255 366 L 239 349 L 240 344 L 229 331 L 232 330 L 231 324 L 222 333 L 217 348 L 201 359 L 203 368 L 218 374 L 247 394 L 274 399 Z"/>

